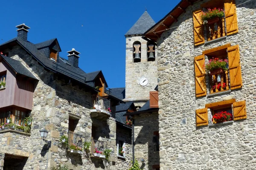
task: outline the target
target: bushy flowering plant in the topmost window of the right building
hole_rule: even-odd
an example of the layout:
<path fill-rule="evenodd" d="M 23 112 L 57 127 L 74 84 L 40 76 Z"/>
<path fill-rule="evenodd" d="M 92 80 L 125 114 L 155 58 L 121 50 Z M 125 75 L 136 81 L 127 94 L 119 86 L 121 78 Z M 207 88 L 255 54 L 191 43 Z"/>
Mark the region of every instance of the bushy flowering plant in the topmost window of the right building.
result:
<path fill-rule="evenodd" d="M 207 12 L 202 11 L 201 13 L 201 21 L 204 24 L 212 24 L 219 21 L 220 18 L 224 17 L 224 10 L 221 8 L 208 8 Z"/>

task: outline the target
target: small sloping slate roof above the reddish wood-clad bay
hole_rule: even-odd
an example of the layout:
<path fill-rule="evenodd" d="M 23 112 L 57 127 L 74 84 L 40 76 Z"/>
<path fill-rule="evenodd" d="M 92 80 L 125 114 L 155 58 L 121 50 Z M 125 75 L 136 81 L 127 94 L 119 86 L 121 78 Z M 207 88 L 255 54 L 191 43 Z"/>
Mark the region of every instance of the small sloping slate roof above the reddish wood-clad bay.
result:
<path fill-rule="evenodd" d="M 32 74 L 20 61 L 16 60 L 16 59 L 12 59 L 10 57 L 6 57 L 2 54 L 0 54 L 0 56 L 3 58 L 3 60 L 5 62 L 7 62 L 11 68 L 17 73 L 17 74 L 21 74 L 27 77 L 30 77 L 32 79 L 36 79 L 38 80 L 34 74 Z"/>

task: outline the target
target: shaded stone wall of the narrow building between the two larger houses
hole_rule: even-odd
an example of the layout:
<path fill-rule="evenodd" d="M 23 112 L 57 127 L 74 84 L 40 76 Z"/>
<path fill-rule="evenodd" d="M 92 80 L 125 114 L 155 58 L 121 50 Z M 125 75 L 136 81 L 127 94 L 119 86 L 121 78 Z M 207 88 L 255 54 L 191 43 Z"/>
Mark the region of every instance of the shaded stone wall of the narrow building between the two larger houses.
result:
<path fill-rule="evenodd" d="M 154 140 L 154 131 L 159 130 L 158 113 L 142 113 L 133 119 L 135 158 L 141 169 L 152 170 L 152 165 L 159 165 L 159 151 Z M 145 160 L 145 165 L 141 159 Z"/>

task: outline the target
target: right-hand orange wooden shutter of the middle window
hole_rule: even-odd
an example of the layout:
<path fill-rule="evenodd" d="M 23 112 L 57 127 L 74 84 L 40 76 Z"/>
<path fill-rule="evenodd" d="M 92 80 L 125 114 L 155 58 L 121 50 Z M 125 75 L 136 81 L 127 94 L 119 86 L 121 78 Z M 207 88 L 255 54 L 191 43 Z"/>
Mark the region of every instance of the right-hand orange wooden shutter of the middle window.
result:
<path fill-rule="evenodd" d="M 231 90 L 242 87 L 239 45 L 227 48 Z"/>

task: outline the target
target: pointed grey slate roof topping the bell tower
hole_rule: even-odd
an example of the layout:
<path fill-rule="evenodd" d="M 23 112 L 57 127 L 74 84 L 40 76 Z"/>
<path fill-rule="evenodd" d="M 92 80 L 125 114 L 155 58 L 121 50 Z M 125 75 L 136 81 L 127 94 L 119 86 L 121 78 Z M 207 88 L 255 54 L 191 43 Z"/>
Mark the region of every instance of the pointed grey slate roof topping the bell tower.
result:
<path fill-rule="evenodd" d="M 147 31 L 149 28 L 154 26 L 155 22 L 150 17 L 147 11 L 145 11 L 139 20 L 129 29 L 129 31 L 125 34 L 125 36 L 128 35 L 134 35 L 134 34 L 144 34 L 145 31 Z"/>

